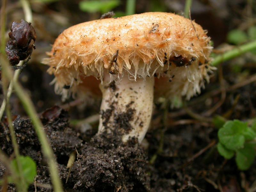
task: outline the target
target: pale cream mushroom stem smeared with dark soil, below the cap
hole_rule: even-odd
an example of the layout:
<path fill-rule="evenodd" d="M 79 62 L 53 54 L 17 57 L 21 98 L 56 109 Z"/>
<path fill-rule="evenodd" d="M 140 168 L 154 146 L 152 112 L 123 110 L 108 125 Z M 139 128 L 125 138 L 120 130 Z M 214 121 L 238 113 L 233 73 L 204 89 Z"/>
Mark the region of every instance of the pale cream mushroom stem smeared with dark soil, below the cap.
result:
<path fill-rule="evenodd" d="M 109 82 L 110 78 L 104 78 L 100 84 L 102 102 L 98 134 L 117 131 L 123 142 L 135 137 L 141 143 L 151 120 L 154 78 L 133 81 L 126 74 L 118 83 Z"/>

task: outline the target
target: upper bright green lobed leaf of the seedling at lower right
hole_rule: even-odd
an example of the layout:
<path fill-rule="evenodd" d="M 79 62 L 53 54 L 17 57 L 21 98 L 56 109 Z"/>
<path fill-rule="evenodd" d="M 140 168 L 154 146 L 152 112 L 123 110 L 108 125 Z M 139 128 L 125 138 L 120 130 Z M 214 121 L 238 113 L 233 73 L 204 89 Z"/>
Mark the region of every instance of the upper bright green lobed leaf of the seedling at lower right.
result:
<path fill-rule="evenodd" d="M 239 120 L 227 121 L 218 132 L 220 143 L 227 149 L 236 150 L 244 147 L 243 132 L 247 124 Z"/>

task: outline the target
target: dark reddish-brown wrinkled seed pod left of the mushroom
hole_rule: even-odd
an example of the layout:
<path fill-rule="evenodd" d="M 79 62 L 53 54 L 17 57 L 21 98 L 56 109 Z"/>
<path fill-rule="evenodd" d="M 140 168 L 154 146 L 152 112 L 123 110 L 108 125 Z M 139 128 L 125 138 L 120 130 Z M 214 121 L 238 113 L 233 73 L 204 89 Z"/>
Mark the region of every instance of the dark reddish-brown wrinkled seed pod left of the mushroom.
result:
<path fill-rule="evenodd" d="M 13 22 L 10 40 L 5 47 L 6 55 L 12 65 L 16 65 L 20 60 L 28 58 L 33 48 L 35 49 L 36 31 L 31 23 L 21 20 L 20 23 Z"/>

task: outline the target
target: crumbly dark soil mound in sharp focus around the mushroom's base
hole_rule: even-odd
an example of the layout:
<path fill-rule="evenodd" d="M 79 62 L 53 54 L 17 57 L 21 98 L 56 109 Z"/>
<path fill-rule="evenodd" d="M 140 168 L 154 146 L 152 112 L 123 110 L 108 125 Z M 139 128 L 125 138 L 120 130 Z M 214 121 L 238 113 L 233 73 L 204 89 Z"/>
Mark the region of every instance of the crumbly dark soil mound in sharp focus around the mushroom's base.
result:
<path fill-rule="evenodd" d="M 150 190 L 148 162 L 144 150 L 138 146 L 136 140 L 131 139 L 124 145 L 118 132 L 103 132 L 102 135 L 92 137 L 90 142 L 83 142 L 81 133 L 69 127 L 67 113 L 58 107 L 46 110 L 42 115 L 42 121 L 67 191 Z M 31 121 L 17 117 L 14 120 L 14 128 L 21 155 L 32 157 L 38 165 L 36 181 L 50 183 L 47 164 Z M 2 150 L 11 156 L 12 144 L 6 139 L 10 138 L 9 132 L 5 132 L 4 127 L 1 129 Z M 68 158 L 74 151 L 77 158 L 71 168 L 68 182 L 65 183 L 68 176 Z M 9 190 L 11 191 L 11 188 Z M 34 186 L 31 186 L 30 191 L 34 190 Z"/>

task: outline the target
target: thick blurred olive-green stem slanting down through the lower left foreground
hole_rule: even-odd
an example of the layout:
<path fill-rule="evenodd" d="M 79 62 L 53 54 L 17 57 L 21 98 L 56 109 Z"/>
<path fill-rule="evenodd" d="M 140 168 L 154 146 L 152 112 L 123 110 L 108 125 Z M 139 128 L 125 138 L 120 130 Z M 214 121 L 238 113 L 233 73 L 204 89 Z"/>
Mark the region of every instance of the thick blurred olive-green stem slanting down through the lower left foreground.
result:
<path fill-rule="evenodd" d="M 12 69 L 8 65 L 8 61 L 3 55 L 1 55 L 1 63 L 3 65 L 3 68 L 2 68 L 3 74 L 8 78 L 9 81 L 11 81 L 13 77 Z M 58 167 L 54 159 L 54 153 L 52 151 L 52 147 L 50 146 L 49 141 L 44 132 L 43 124 L 41 123 L 39 117 L 37 116 L 35 106 L 33 105 L 28 94 L 23 90 L 19 82 L 13 81 L 13 87 L 25 111 L 27 112 L 28 116 L 30 117 L 35 127 L 38 139 L 42 146 L 43 154 L 49 165 L 49 171 L 50 171 L 50 177 L 52 180 L 53 190 L 56 192 L 64 191 L 62 189 L 62 184 L 61 184 L 59 173 L 58 173 Z"/>

